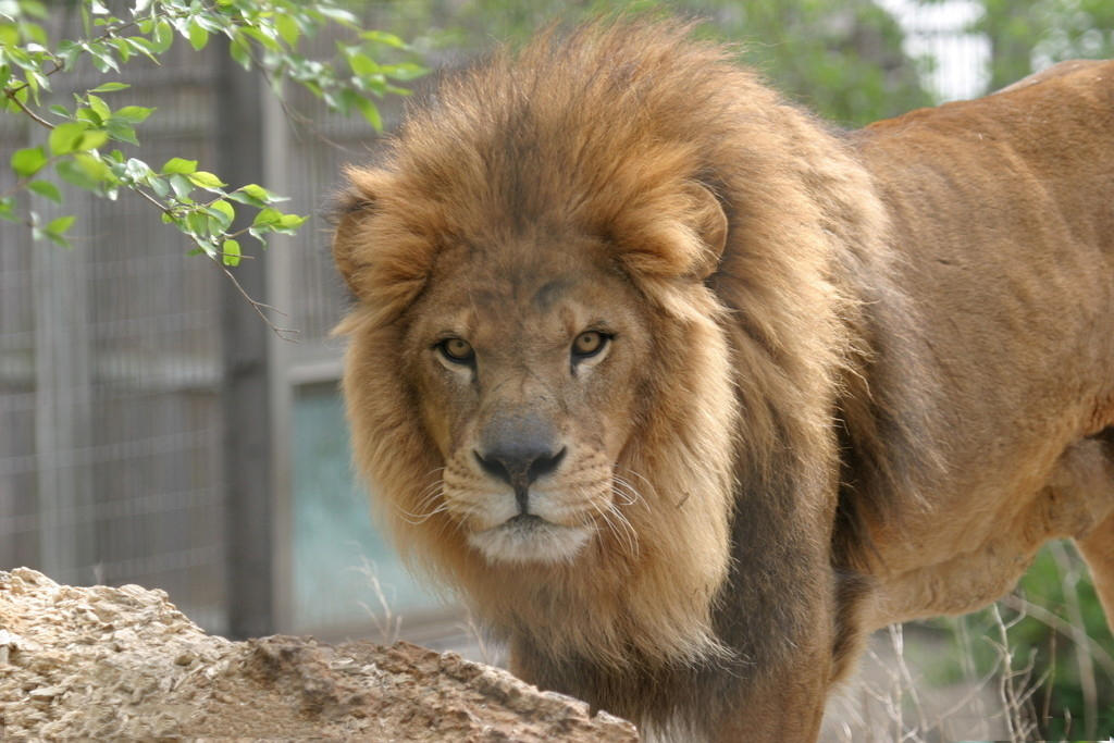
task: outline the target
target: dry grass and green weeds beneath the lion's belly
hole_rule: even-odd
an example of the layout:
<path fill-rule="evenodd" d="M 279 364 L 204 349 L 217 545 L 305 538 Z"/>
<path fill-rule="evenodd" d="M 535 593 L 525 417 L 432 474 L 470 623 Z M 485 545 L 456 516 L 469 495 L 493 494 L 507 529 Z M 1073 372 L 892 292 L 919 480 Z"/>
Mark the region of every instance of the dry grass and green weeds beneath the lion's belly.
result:
<path fill-rule="evenodd" d="M 859 677 L 829 704 L 823 740 L 1027 743 L 1110 736 L 1114 731 L 1100 725 L 1114 704 L 1103 698 L 1114 681 L 1114 657 L 1084 626 L 1085 567 L 1063 544 L 1048 553 L 1063 592 L 1056 612 L 1015 593 L 980 615 L 889 627 L 873 638 Z M 1039 647 L 1032 644 L 1034 620 L 1048 629 Z M 1058 711 L 1054 690 L 1066 682 L 1049 671 L 1057 654 L 1075 666 L 1072 683 L 1082 695 L 1081 703 Z"/>

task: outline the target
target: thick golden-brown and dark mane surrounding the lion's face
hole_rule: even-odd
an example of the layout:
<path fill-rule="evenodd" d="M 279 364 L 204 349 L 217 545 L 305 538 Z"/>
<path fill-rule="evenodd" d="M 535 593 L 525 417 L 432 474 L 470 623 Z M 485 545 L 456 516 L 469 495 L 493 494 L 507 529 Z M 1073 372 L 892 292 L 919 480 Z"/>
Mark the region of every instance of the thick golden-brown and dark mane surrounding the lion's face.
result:
<path fill-rule="evenodd" d="M 688 30 L 550 32 L 449 77 L 380 164 L 349 170 L 334 243 L 359 297 L 339 327 L 354 460 L 403 554 L 509 637 L 534 681 L 663 717 L 680 702 L 651 669 L 747 675 L 809 643 L 846 655 L 850 617 L 814 626 L 824 613 L 807 608 L 856 610 L 861 556 L 848 541 L 831 565 L 832 524 L 885 522 L 893 504 L 879 493 L 916 493 L 931 456 L 927 421 L 890 412 L 924 410 L 909 400 L 929 382 L 913 354 L 878 353 L 881 325 L 916 324 L 889 278 L 869 176 L 838 136 Z M 729 221 L 702 284 L 691 275 L 719 256 L 698 239 L 692 184 Z M 657 493 L 627 514 L 637 557 L 492 567 L 442 515 L 422 515 L 443 462 L 399 352 L 409 307 L 447 235 L 524 223 L 604 236 L 658 319 L 649 412 L 619 462 Z M 862 380 L 882 358 L 893 369 L 871 369 L 887 381 L 871 395 Z"/>

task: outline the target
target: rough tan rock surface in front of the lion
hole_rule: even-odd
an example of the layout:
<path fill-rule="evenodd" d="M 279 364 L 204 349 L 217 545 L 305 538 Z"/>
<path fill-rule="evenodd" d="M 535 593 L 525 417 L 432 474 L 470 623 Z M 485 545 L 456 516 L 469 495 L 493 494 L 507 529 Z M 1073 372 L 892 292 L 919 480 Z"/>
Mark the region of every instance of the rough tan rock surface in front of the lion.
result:
<path fill-rule="evenodd" d="M 0 739 L 635 741 L 498 668 L 398 643 L 234 643 L 160 590 L 0 571 Z"/>

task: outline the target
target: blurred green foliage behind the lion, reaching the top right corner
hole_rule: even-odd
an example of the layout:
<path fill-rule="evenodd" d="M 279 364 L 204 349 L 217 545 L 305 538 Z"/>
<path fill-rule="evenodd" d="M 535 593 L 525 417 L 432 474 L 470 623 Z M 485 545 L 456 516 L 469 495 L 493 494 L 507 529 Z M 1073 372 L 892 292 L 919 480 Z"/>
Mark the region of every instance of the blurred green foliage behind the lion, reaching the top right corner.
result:
<path fill-rule="evenodd" d="M 1114 57 L 1111 0 L 974 0 L 965 29 L 990 45 L 984 92 L 1064 59 Z M 908 11 L 955 4 L 908 0 Z M 891 3 L 888 3 L 891 4 Z M 960 3 L 968 4 L 968 3 Z M 368 8 L 373 28 L 412 39 L 433 59 L 521 41 L 550 22 L 618 12 L 692 17 L 701 31 L 741 45 L 741 58 L 790 98 L 842 126 L 932 105 L 932 60 L 902 50 L 905 35 L 874 0 L 400 0 Z"/>

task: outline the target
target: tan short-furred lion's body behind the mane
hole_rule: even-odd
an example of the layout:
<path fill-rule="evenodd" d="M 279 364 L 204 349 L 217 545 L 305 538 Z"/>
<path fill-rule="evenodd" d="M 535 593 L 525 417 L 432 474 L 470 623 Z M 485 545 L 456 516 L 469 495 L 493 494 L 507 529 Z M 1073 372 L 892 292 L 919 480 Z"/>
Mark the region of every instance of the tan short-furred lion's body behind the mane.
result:
<path fill-rule="evenodd" d="M 1114 65 L 1072 68 L 856 137 L 946 426 L 926 508 L 876 535 L 876 625 L 983 606 L 1111 511 Z"/>

